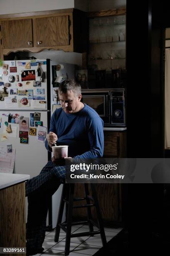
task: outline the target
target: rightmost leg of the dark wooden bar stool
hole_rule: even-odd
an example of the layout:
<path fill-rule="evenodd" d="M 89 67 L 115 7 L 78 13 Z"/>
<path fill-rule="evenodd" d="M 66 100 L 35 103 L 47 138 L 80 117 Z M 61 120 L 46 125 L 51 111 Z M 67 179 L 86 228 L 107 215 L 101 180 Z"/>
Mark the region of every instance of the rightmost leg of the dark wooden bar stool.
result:
<path fill-rule="evenodd" d="M 95 186 L 92 183 L 91 183 L 91 189 L 92 189 L 92 197 L 93 197 L 93 199 L 95 201 L 95 205 L 96 205 L 97 221 L 98 221 L 98 225 L 99 225 L 99 228 L 100 228 L 100 236 L 101 236 L 101 239 L 102 239 L 102 245 L 104 247 L 107 244 L 106 236 L 105 236 L 105 230 L 104 230 L 104 227 L 103 227 L 102 215 L 100 213 L 100 206 L 99 206 L 99 202 L 98 202 L 98 199 L 97 199 Z"/>

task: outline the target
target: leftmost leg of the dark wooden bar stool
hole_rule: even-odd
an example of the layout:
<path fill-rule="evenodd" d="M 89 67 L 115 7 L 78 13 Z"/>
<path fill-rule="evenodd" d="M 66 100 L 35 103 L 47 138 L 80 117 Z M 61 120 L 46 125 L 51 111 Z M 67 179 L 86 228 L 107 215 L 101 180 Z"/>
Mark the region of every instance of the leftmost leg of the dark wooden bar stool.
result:
<path fill-rule="evenodd" d="M 58 242 L 58 239 L 59 239 L 59 236 L 60 236 L 60 226 L 58 224 L 62 222 L 65 193 L 66 193 L 66 185 L 63 184 L 62 195 L 61 195 L 61 200 L 60 200 L 60 208 L 59 208 L 58 218 L 57 218 L 57 225 L 56 225 L 56 229 L 55 229 L 55 238 L 54 238 L 55 242 Z"/>

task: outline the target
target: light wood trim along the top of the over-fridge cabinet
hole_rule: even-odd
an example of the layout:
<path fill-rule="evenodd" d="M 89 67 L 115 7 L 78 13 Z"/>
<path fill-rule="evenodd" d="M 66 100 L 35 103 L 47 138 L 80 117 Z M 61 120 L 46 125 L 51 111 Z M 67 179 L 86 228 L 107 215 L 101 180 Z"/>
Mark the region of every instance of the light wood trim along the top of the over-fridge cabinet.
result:
<path fill-rule="evenodd" d="M 0 15 L 0 20 L 10 19 L 10 18 L 19 19 L 19 18 L 32 17 L 32 16 L 41 16 L 41 15 L 65 14 L 65 13 L 72 13 L 73 10 L 74 10 L 74 8 L 60 9 L 60 10 L 38 11 L 38 12 L 30 12 L 30 13 L 1 14 Z"/>

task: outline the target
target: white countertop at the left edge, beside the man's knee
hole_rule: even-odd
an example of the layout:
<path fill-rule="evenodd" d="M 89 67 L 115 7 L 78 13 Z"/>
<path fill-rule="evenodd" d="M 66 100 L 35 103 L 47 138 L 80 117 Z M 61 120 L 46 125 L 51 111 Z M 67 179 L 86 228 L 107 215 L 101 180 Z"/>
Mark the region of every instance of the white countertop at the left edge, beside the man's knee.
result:
<path fill-rule="evenodd" d="M 0 173 L 0 189 L 24 182 L 30 179 L 28 174 Z"/>

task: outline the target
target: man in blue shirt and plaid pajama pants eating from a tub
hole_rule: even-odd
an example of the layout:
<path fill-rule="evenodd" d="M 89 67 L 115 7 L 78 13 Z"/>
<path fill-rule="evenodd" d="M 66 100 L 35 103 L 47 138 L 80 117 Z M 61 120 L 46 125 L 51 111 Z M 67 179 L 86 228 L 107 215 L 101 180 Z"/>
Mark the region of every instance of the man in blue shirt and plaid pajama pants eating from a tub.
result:
<path fill-rule="evenodd" d="M 68 145 L 68 156 L 75 159 L 102 157 L 103 121 L 88 105 L 80 102 L 81 87 L 74 80 L 65 80 L 59 87 L 61 108 L 50 120 L 45 147 L 52 151 L 54 143 Z M 43 251 L 48 203 L 61 183 L 65 182 L 65 166 L 49 161 L 40 174 L 26 183 L 28 220 L 27 254 Z"/>

